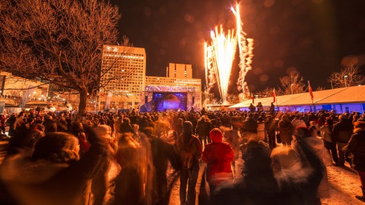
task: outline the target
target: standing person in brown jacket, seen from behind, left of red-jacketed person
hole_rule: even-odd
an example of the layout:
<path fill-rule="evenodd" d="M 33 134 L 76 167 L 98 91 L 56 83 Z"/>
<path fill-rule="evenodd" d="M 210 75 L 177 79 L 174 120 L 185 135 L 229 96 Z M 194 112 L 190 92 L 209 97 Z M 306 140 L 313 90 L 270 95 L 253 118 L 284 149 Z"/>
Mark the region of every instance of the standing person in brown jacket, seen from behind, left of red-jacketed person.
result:
<path fill-rule="evenodd" d="M 180 204 L 195 204 L 199 174 L 199 159 L 203 153 L 197 136 L 192 134 L 192 122 L 183 122 L 183 134 L 176 143 L 182 160 L 180 171 Z"/>

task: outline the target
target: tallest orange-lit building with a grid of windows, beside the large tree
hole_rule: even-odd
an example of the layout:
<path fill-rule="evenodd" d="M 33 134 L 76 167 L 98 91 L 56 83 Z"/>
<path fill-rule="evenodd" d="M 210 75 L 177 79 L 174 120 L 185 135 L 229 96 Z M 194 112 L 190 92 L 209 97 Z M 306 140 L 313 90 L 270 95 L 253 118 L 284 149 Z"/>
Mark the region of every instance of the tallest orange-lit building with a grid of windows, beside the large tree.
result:
<path fill-rule="evenodd" d="M 101 105 L 112 92 L 117 108 L 138 108 L 136 104 L 145 90 L 145 48 L 104 45 L 101 72 L 100 83 L 105 83 L 99 94 Z"/>

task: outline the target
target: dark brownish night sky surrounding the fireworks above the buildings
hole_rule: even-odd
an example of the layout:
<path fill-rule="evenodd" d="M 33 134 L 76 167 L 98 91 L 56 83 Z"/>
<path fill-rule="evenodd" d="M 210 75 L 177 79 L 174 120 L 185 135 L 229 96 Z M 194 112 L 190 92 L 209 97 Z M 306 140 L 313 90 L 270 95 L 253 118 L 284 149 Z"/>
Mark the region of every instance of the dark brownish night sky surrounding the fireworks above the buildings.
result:
<path fill-rule="evenodd" d="M 230 10 L 237 1 L 112 0 L 119 6 L 120 39 L 145 48 L 147 76 L 165 76 L 169 62 L 192 64 L 193 77 L 204 83 L 204 41 L 219 24 L 235 29 Z M 312 87 L 352 62 L 365 74 L 365 1 L 244 0 L 241 19 L 254 38 L 253 69 L 246 81 L 253 92 L 277 87 L 279 78 L 298 71 Z M 238 50 L 238 48 L 237 48 Z M 237 51 L 238 53 L 238 51 Z M 237 89 L 238 55 L 229 92 Z"/>

